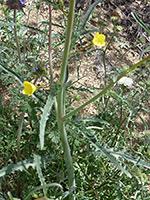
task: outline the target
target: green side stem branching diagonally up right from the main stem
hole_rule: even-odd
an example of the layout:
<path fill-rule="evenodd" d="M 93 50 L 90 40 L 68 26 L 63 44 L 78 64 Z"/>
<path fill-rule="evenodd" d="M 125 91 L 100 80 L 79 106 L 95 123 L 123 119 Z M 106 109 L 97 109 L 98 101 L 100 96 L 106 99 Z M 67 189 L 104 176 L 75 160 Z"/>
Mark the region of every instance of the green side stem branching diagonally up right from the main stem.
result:
<path fill-rule="evenodd" d="M 81 106 L 79 106 L 78 108 L 74 109 L 73 111 L 71 111 L 70 113 L 66 114 L 63 117 L 63 120 L 66 120 L 68 117 L 74 115 L 76 112 L 79 112 L 80 110 L 82 110 L 85 106 L 89 105 L 90 103 L 94 102 L 95 100 L 97 100 L 100 96 L 102 96 L 103 94 L 105 94 L 109 89 L 111 89 L 122 77 L 126 76 L 128 73 L 130 73 L 131 71 L 133 71 L 136 67 L 142 65 L 145 61 L 150 60 L 150 55 L 147 56 L 146 58 L 142 59 L 140 62 L 136 63 L 135 65 L 133 65 L 132 67 L 130 67 L 128 70 L 126 70 L 125 72 L 123 72 L 116 81 L 110 83 L 104 90 L 102 90 L 101 92 L 99 92 L 96 96 L 92 97 L 90 100 L 88 100 L 87 102 L 85 102 L 84 104 L 82 104 Z"/>

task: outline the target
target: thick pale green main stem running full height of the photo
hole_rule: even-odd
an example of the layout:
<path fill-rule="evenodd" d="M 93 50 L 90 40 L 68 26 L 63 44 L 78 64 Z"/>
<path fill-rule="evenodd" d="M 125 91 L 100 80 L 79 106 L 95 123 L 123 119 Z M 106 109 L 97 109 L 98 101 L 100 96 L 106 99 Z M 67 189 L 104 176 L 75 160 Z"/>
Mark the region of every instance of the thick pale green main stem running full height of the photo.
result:
<path fill-rule="evenodd" d="M 64 52 L 63 52 L 61 74 L 60 74 L 60 79 L 59 79 L 60 88 L 59 88 L 58 96 L 57 96 L 58 128 L 59 128 L 61 142 L 64 149 L 64 159 L 65 159 L 65 163 L 67 167 L 68 185 L 69 185 L 69 190 L 71 192 L 69 197 L 66 198 L 69 200 L 75 200 L 75 197 L 73 195 L 73 190 L 75 189 L 75 178 L 74 178 L 74 169 L 73 169 L 73 161 L 72 161 L 71 152 L 70 152 L 70 146 L 68 143 L 66 129 L 65 129 L 65 122 L 62 118 L 65 114 L 65 96 L 64 96 L 65 95 L 65 79 L 66 79 L 68 54 L 70 50 L 72 28 L 73 28 L 73 21 L 74 21 L 74 7 L 75 7 L 75 0 L 70 0 L 65 47 L 64 47 Z"/>

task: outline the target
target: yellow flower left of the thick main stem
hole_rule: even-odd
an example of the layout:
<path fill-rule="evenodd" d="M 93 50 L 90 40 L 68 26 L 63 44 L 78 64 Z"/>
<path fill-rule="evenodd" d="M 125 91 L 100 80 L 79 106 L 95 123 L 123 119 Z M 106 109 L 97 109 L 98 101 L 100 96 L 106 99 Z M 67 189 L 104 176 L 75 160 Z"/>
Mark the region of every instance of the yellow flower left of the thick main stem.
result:
<path fill-rule="evenodd" d="M 37 89 L 37 87 L 34 84 L 32 84 L 28 81 L 24 81 L 23 85 L 24 85 L 24 89 L 22 90 L 22 94 L 25 94 L 28 96 L 31 96 Z"/>

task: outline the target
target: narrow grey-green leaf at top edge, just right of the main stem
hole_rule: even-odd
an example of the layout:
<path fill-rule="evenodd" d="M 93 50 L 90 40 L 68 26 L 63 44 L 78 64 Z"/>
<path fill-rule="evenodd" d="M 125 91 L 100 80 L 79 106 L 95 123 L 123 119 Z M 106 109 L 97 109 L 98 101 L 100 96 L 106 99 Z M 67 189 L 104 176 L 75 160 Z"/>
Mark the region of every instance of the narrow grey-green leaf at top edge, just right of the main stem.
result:
<path fill-rule="evenodd" d="M 91 13 L 93 12 L 94 8 L 97 6 L 97 4 L 99 4 L 100 2 L 102 2 L 102 0 L 97 0 L 96 2 L 94 2 L 89 9 L 87 10 L 86 14 L 84 15 L 84 18 L 81 22 L 81 27 L 80 30 L 84 29 L 86 22 L 88 21 Z"/>

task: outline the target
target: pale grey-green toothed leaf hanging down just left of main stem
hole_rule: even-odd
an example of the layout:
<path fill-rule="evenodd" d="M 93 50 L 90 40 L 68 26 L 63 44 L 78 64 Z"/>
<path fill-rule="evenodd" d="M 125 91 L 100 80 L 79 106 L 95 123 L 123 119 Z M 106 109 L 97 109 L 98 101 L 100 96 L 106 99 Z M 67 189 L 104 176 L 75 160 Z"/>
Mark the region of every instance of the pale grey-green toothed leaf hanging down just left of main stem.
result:
<path fill-rule="evenodd" d="M 50 115 L 50 111 L 52 109 L 54 102 L 54 95 L 52 92 L 50 92 L 48 99 L 46 101 L 46 104 L 44 108 L 42 109 L 42 114 L 41 114 L 41 119 L 40 119 L 40 146 L 41 150 L 44 148 L 44 135 L 45 135 L 45 127 L 46 127 L 46 122 L 48 120 L 48 117 Z"/>

